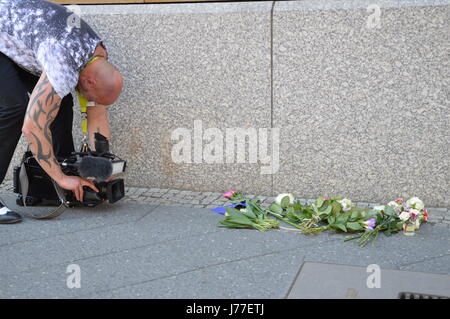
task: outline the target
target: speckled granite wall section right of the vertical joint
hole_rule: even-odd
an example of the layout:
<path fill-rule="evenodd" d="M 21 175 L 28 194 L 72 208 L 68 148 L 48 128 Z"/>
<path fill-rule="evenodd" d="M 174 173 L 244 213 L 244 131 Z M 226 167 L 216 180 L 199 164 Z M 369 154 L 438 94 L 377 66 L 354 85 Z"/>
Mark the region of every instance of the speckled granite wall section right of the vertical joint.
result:
<path fill-rule="evenodd" d="M 379 28 L 368 27 L 371 3 L 380 3 Z M 276 4 L 275 193 L 450 204 L 446 3 Z"/>

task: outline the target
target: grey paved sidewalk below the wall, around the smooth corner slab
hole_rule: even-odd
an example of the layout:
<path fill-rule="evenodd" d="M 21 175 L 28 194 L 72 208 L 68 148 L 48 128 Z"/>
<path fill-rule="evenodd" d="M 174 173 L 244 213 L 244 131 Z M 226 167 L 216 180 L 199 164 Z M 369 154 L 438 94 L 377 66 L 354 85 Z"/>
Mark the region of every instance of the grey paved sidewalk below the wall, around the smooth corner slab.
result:
<path fill-rule="evenodd" d="M 0 225 L 0 298 L 282 298 L 305 261 L 450 274 L 443 223 L 360 248 L 331 233 L 223 229 L 209 209 L 131 196 Z M 26 213 L 13 194 L 2 198 Z M 80 267 L 80 288 L 67 287 L 71 264 Z"/>

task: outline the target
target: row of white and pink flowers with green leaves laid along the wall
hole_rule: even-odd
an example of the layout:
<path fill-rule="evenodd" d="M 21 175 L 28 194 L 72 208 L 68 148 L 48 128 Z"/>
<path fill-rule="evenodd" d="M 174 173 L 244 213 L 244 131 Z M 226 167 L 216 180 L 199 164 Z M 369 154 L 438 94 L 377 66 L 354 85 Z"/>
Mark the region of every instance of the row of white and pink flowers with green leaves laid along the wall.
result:
<path fill-rule="evenodd" d="M 258 197 L 249 200 L 236 191 L 226 192 L 224 197 L 235 205 L 225 207 L 225 219 L 219 222 L 221 227 L 264 231 L 283 228 L 279 226 L 282 221 L 303 234 L 325 230 L 356 233 L 345 241 L 358 239 L 360 246 L 374 242 L 380 231 L 389 236 L 403 229 L 408 235 L 428 219 L 428 211 L 417 197 L 407 201 L 398 198 L 372 209 L 358 208 L 350 199 L 341 197 L 320 196 L 312 204 L 302 205 L 292 194 L 280 194 L 269 207 L 263 206 Z"/>

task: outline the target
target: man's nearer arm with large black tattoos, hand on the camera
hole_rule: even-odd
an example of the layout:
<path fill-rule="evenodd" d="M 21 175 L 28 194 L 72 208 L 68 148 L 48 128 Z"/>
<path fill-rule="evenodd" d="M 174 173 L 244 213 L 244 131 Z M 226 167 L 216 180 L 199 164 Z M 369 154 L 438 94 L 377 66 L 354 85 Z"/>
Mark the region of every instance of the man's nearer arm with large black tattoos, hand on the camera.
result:
<path fill-rule="evenodd" d="M 83 200 L 83 186 L 89 186 L 98 192 L 91 181 L 76 176 L 67 176 L 53 153 L 53 141 L 50 125 L 56 118 L 61 98 L 53 89 L 45 72 L 42 73 L 30 96 L 22 127 L 23 134 L 30 142 L 30 150 L 42 169 L 59 186 L 75 193 L 77 200 Z"/>

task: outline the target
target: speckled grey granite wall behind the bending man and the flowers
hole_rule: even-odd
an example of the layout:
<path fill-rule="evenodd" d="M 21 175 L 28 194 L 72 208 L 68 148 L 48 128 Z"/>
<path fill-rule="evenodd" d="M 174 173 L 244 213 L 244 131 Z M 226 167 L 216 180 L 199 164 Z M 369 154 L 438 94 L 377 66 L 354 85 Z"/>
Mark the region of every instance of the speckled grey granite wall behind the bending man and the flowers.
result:
<path fill-rule="evenodd" d="M 450 206 L 449 0 L 81 9 L 126 79 L 128 185 Z"/>

